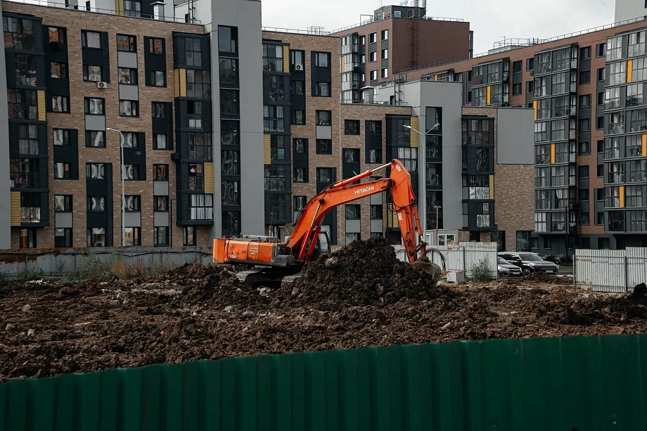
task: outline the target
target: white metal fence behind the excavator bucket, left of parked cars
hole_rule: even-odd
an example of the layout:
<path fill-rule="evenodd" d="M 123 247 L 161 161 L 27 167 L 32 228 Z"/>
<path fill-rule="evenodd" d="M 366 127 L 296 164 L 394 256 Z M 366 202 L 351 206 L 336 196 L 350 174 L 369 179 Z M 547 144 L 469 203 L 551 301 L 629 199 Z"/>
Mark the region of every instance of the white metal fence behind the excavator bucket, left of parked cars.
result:
<path fill-rule="evenodd" d="M 402 262 L 409 262 L 406 258 L 404 245 L 395 245 L 394 247 L 397 258 Z M 442 253 L 446 271 L 464 272 L 466 277 L 471 277 L 475 267 L 485 264 L 491 278 L 499 277 L 497 243 L 457 243 L 456 245 L 439 245 L 435 249 Z M 437 253 L 428 252 L 427 257 L 431 262 L 443 266 L 442 259 Z"/>

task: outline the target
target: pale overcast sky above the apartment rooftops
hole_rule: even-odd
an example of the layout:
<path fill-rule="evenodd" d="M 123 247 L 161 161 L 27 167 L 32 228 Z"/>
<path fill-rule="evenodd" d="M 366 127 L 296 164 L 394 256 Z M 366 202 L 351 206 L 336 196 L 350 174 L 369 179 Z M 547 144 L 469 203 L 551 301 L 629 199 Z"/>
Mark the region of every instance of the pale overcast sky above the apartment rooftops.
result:
<path fill-rule="evenodd" d="M 385 0 L 384 5 L 399 4 Z M 379 0 L 262 0 L 263 25 L 326 31 L 359 22 Z M 474 31 L 474 53 L 492 49 L 503 37 L 547 38 L 613 22 L 614 0 L 452 0 L 427 1 L 427 15 L 463 18 Z M 366 19 L 366 17 L 363 17 Z"/>

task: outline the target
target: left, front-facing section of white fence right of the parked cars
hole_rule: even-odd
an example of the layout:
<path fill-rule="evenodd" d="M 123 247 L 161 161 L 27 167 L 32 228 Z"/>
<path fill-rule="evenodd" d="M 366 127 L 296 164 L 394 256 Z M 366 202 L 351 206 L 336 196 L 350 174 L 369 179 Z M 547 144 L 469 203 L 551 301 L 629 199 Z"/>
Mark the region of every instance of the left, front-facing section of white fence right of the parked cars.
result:
<path fill-rule="evenodd" d="M 575 250 L 575 288 L 597 292 L 627 292 L 624 250 Z"/>

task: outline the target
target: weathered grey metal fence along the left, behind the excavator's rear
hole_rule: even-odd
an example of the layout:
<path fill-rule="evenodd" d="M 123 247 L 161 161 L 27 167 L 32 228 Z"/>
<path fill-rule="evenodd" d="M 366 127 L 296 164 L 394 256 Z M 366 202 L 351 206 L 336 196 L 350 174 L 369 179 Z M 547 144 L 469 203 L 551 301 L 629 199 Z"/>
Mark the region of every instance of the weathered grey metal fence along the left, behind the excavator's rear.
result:
<path fill-rule="evenodd" d="M 39 276 L 84 276 L 96 266 L 115 262 L 148 269 L 172 269 L 184 264 L 210 264 L 212 251 L 207 247 L 129 247 L 92 250 L 40 250 L 0 252 L 0 278 L 6 280 Z"/>

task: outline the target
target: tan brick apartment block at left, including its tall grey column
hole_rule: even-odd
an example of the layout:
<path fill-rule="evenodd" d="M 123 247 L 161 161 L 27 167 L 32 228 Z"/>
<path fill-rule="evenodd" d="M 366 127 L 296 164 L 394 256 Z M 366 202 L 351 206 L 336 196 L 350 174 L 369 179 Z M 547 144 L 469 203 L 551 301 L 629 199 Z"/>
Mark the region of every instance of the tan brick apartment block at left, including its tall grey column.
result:
<path fill-rule="evenodd" d="M 226 3 L 205 32 L 118 10 L 2 2 L 3 246 L 210 245 L 262 233 L 252 210 L 255 193 L 262 199 L 260 3 Z M 245 18 L 257 37 L 239 35 L 232 3 L 258 12 L 256 23 Z M 221 163 L 231 175 L 214 169 Z"/>

